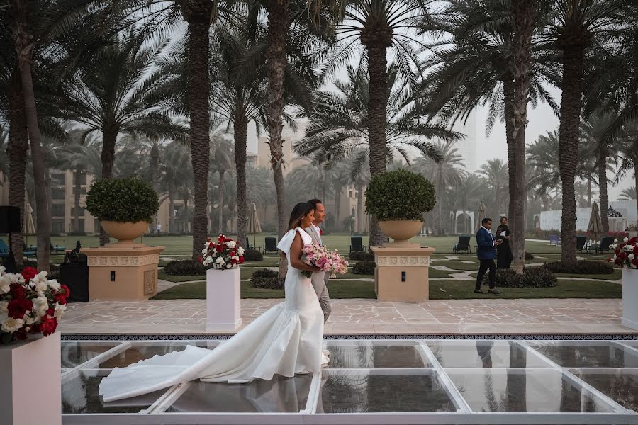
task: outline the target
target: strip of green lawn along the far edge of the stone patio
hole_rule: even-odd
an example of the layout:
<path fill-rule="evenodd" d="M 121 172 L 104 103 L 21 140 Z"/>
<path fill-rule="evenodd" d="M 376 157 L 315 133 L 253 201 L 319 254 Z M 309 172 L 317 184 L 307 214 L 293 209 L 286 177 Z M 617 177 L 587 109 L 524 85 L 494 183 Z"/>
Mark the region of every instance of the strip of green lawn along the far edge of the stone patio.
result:
<path fill-rule="evenodd" d="M 242 282 L 242 298 L 283 298 L 283 290 L 252 288 L 250 282 Z M 330 297 L 376 298 L 374 282 L 331 280 L 328 283 Z M 472 300 L 486 298 L 622 298 L 622 286 L 609 282 L 587 280 L 561 280 L 554 288 L 501 288 L 500 295 L 475 294 L 471 280 L 430 282 L 431 300 Z M 206 298 L 206 282 L 182 283 L 155 295 L 154 300 L 179 300 Z"/>

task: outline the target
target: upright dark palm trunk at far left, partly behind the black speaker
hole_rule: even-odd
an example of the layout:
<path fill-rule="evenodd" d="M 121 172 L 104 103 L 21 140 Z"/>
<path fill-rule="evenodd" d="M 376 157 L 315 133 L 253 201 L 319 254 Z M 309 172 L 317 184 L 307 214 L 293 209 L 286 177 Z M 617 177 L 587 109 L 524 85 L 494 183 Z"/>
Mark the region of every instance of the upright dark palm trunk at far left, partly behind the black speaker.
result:
<path fill-rule="evenodd" d="M 13 75 L 9 91 L 9 205 L 18 207 L 24 212 L 26 154 L 28 149 L 28 132 L 24 112 L 21 83 L 18 69 Z M 24 214 L 21 214 L 24 217 Z M 21 217 L 21 220 L 22 220 Z M 18 268 L 24 258 L 24 239 L 22 232 L 11 235 L 11 248 Z"/>

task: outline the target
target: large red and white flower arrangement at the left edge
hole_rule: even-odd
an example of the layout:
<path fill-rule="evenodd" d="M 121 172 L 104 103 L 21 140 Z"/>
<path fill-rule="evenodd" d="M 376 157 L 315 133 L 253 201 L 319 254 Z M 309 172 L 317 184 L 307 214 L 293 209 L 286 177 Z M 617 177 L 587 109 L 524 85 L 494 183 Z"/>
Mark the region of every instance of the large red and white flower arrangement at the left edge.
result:
<path fill-rule="evenodd" d="M 69 288 L 57 280 L 47 279 L 47 272 L 38 273 L 25 267 L 22 273 L 5 273 L 0 267 L 1 341 L 26 339 L 28 334 L 49 336 L 57 329 L 57 321 L 67 310 Z"/>

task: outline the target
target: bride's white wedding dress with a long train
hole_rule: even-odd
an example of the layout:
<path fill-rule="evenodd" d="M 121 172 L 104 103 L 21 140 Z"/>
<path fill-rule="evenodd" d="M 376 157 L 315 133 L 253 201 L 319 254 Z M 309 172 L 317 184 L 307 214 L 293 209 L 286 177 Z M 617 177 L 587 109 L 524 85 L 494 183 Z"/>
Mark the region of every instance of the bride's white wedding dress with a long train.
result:
<path fill-rule="evenodd" d="M 100 382 L 104 402 L 136 397 L 191 380 L 246 383 L 272 379 L 273 375 L 318 372 L 328 358 L 323 355 L 323 312 L 310 279 L 290 266 L 290 246 L 296 232 L 303 244 L 312 243 L 303 229 L 290 230 L 277 248 L 286 253 L 286 300 L 259 316 L 217 348 L 187 346 L 114 368 Z"/>

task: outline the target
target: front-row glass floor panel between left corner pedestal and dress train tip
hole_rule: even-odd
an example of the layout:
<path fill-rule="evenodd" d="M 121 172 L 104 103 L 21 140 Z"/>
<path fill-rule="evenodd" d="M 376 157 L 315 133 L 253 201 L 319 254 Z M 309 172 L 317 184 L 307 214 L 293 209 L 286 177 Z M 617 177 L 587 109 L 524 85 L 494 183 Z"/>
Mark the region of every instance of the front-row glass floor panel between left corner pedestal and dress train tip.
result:
<path fill-rule="evenodd" d="M 139 413 L 150 407 L 166 390 L 140 397 L 105 403 L 98 395 L 101 380 L 111 370 L 79 370 L 62 384 L 62 413 Z"/>

